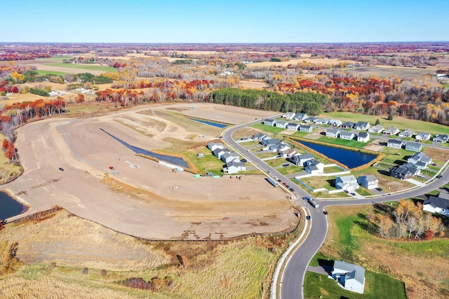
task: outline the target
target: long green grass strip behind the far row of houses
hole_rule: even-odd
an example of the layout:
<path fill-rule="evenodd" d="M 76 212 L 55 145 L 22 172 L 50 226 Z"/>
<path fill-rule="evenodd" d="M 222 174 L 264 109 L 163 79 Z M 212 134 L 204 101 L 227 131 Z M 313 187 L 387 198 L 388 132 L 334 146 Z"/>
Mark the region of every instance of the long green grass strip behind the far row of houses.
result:
<path fill-rule="evenodd" d="M 388 116 L 369 116 L 366 114 L 357 114 L 349 112 L 328 112 L 321 114 L 322 118 L 336 118 L 342 120 L 342 122 L 351 121 L 357 123 L 358 120 L 368 121 L 371 125 L 374 125 L 376 120 L 380 120 L 380 125 L 385 129 L 388 127 L 397 127 L 399 130 L 412 129 L 415 132 L 428 132 L 431 134 L 449 134 L 449 127 L 445 125 L 439 125 L 437 123 L 428 123 L 422 120 L 411 120 L 409 118 L 401 118 L 395 116 L 393 120 L 387 120 Z"/>

